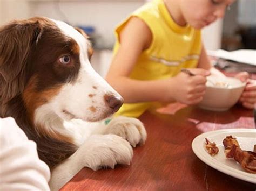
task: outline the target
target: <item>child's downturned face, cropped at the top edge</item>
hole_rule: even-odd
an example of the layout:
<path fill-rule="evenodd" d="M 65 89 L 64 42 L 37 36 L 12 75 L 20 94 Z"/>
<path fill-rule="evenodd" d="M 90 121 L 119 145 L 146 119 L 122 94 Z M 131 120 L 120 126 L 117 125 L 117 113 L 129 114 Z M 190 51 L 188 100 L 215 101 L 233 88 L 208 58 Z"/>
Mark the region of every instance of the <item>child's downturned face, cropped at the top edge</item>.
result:
<path fill-rule="evenodd" d="M 225 15 L 227 6 L 235 0 L 178 0 L 185 21 L 196 29 L 213 23 Z"/>

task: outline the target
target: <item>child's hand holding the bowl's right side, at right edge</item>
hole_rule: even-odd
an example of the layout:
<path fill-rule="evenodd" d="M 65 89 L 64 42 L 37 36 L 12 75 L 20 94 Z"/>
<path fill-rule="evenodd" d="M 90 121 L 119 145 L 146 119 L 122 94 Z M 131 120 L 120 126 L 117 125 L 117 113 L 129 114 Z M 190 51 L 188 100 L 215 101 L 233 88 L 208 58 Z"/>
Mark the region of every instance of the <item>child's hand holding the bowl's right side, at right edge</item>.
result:
<path fill-rule="evenodd" d="M 247 72 L 241 72 L 235 77 L 242 82 L 247 82 L 239 101 L 245 108 L 253 109 L 256 103 L 256 80 L 248 79 L 249 74 Z"/>

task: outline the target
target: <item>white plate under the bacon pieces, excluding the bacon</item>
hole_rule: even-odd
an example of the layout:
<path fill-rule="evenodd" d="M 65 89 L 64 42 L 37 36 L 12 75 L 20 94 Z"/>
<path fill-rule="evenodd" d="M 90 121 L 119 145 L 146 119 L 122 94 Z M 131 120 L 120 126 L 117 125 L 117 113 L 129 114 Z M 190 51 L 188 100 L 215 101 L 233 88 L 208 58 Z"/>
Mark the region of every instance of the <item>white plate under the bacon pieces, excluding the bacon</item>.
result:
<path fill-rule="evenodd" d="M 222 142 L 226 136 L 230 135 L 237 138 L 242 150 L 253 151 L 253 146 L 256 144 L 256 129 L 224 129 L 206 132 L 194 138 L 192 150 L 200 160 L 218 171 L 247 182 L 256 183 L 256 174 L 246 172 L 234 159 L 225 157 Z M 217 155 L 211 156 L 207 153 L 205 138 L 216 143 L 219 148 Z"/>

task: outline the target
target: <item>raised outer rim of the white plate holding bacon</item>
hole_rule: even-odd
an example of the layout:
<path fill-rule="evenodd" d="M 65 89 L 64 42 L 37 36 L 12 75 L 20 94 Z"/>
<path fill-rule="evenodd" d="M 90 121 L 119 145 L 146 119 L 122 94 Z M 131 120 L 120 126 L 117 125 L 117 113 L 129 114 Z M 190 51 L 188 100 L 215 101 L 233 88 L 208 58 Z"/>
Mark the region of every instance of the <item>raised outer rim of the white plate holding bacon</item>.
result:
<path fill-rule="evenodd" d="M 233 176 L 234 178 L 238 178 L 247 182 L 255 183 L 256 184 L 256 174 L 250 174 L 247 172 L 239 171 L 238 169 L 232 168 L 230 166 L 222 164 L 220 161 L 215 160 L 210 154 L 208 154 L 204 149 L 196 149 L 196 145 L 202 142 L 202 140 L 205 141 L 205 138 L 209 135 L 215 135 L 218 133 L 224 134 L 224 133 L 255 133 L 256 135 L 256 129 L 221 129 L 221 130 L 213 130 L 201 133 L 197 137 L 195 137 L 192 141 L 192 150 L 196 156 L 203 161 L 208 166 L 211 166 L 214 169 L 217 169 L 218 171 Z M 202 147 L 203 148 L 203 147 Z M 207 155 L 206 155 L 206 154 Z M 214 161 L 215 160 L 215 161 Z M 231 170 L 232 169 L 232 170 Z"/>

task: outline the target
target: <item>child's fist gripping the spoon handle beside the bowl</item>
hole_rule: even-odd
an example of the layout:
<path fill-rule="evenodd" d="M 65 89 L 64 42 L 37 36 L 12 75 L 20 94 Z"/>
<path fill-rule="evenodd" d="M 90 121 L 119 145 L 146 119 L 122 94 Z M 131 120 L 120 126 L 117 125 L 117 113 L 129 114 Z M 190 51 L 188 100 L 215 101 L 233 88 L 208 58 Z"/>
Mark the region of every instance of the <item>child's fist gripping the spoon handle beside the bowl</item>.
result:
<path fill-rule="evenodd" d="M 170 79 L 172 89 L 169 91 L 174 100 L 188 105 L 197 104 L 203 99 L 206 89 L 206 76 L 210 75 L 208 70 L 201 68 L 193 68 L 190 71 L 195 75 L 190 76 L 181 72 L 172 80 Z"/>

